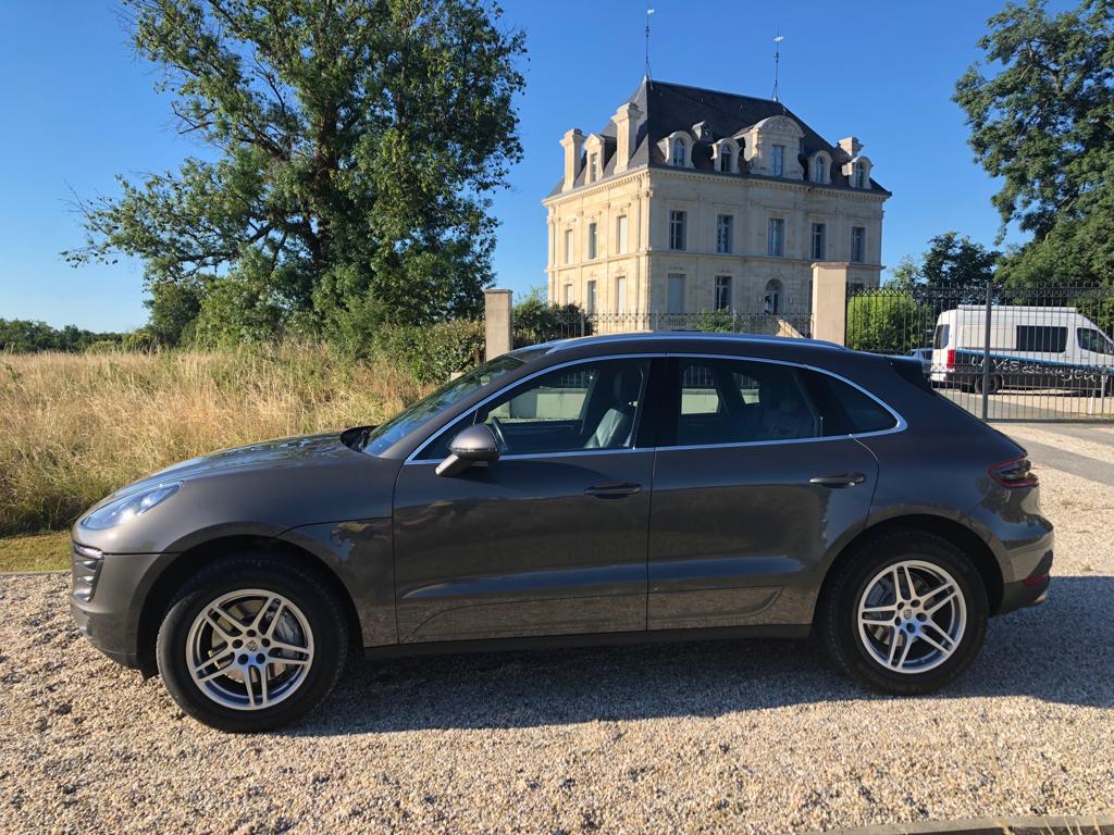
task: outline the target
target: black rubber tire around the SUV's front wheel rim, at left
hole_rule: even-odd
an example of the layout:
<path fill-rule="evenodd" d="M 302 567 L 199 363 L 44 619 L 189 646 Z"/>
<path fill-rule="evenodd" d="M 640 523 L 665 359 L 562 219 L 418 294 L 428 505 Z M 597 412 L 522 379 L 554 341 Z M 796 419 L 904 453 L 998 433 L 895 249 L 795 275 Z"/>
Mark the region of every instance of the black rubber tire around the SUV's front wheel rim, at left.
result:
<path fill-rule="evenodd" d="M 189 630 L 202 610 L 242 589 L 274 592 L 294 603 L 313 640 L 312 660 L 299 687 L 271 707 L 251 710 L 209 698 L 195 684 L 186 661 Z M 346 657 L 348 628 L 335 595 L 316 572 L 265 553 L 229 556 L 190 578 L 170 602 L 156 644 L 159 675 L 178 706 L 209 727 L 233 733 L 272 730 L 301 719 L 333 689 Z"/>

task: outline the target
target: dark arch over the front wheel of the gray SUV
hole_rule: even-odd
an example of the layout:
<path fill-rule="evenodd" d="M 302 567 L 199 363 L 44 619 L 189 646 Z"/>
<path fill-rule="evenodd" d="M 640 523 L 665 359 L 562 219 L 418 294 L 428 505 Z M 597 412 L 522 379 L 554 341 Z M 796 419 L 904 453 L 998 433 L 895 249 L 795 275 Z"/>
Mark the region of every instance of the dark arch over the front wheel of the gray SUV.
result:
<path fill-rule="evenodd" d="M 163 616 L 169 607 L 175 592 L 182 588 L 193 574 L 207 566 L 232 553 L 264 553 L 281 559 L 296 561 L 301 568 L 309 568 L 332 591 L 340 601 L 344 612 L 344 622 L 349 630 L 349 647 L 360 647 L 360 617 L 356 613 L 352 596 L 340 577 L 316 554 L 304 548 L 272 537 L 233 534 L 197 543 L 178 553 L 167 564 L 144 598 L 136 626 L 136 658 L 144 676 L 157 672 L 155 662 L 155 640 Z"/>

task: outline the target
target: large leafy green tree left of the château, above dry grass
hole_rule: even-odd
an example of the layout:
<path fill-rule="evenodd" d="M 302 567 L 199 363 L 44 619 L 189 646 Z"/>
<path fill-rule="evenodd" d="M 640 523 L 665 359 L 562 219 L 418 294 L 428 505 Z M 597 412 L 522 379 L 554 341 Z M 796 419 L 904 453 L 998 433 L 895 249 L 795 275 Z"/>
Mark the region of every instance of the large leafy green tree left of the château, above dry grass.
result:
<path fill-rule="evenodd" d="M 190 294 L 208 341 L 479 312 L 488 195 L 521 156 L 524 36 L 497 7 L 124 2 L 179 130 L 208 151 L 80 204 L 72 263 L 139 257 L 153 325 L 179 337 Z"/>

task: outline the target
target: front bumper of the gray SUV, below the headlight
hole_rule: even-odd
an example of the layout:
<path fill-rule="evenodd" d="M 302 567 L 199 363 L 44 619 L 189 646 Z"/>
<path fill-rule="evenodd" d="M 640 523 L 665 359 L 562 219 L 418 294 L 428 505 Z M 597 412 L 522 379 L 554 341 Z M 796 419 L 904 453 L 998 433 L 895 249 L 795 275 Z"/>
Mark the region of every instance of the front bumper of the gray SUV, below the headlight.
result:
<path fill-rule="evenodd" d="M 70 613 L 78 631 L 117 664 L 149 671 L 139 651 L 139 619 L 154 578 L 167 554 L 101 554 L 89 584 L 88 549 L 75 543 Z M 148 654 L 149 655 L 149 654 Z"/>

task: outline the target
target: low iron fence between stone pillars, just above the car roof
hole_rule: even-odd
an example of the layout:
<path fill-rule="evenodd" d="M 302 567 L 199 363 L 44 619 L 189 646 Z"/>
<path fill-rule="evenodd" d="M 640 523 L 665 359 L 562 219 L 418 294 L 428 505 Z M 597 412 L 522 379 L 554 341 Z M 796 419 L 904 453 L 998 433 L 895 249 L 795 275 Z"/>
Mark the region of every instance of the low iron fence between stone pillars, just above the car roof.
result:
<path fill-rule="evenodd" d="M 808 311 L 696 311 L 692 313 L 587 313 L 573 305 L 550 307 L 528 321 L 515 321 L 516 346 L 550 340 L 567 340 L 598 334 L 646 331 L 703 331 L 809 336 L 812 328 Z"/>

